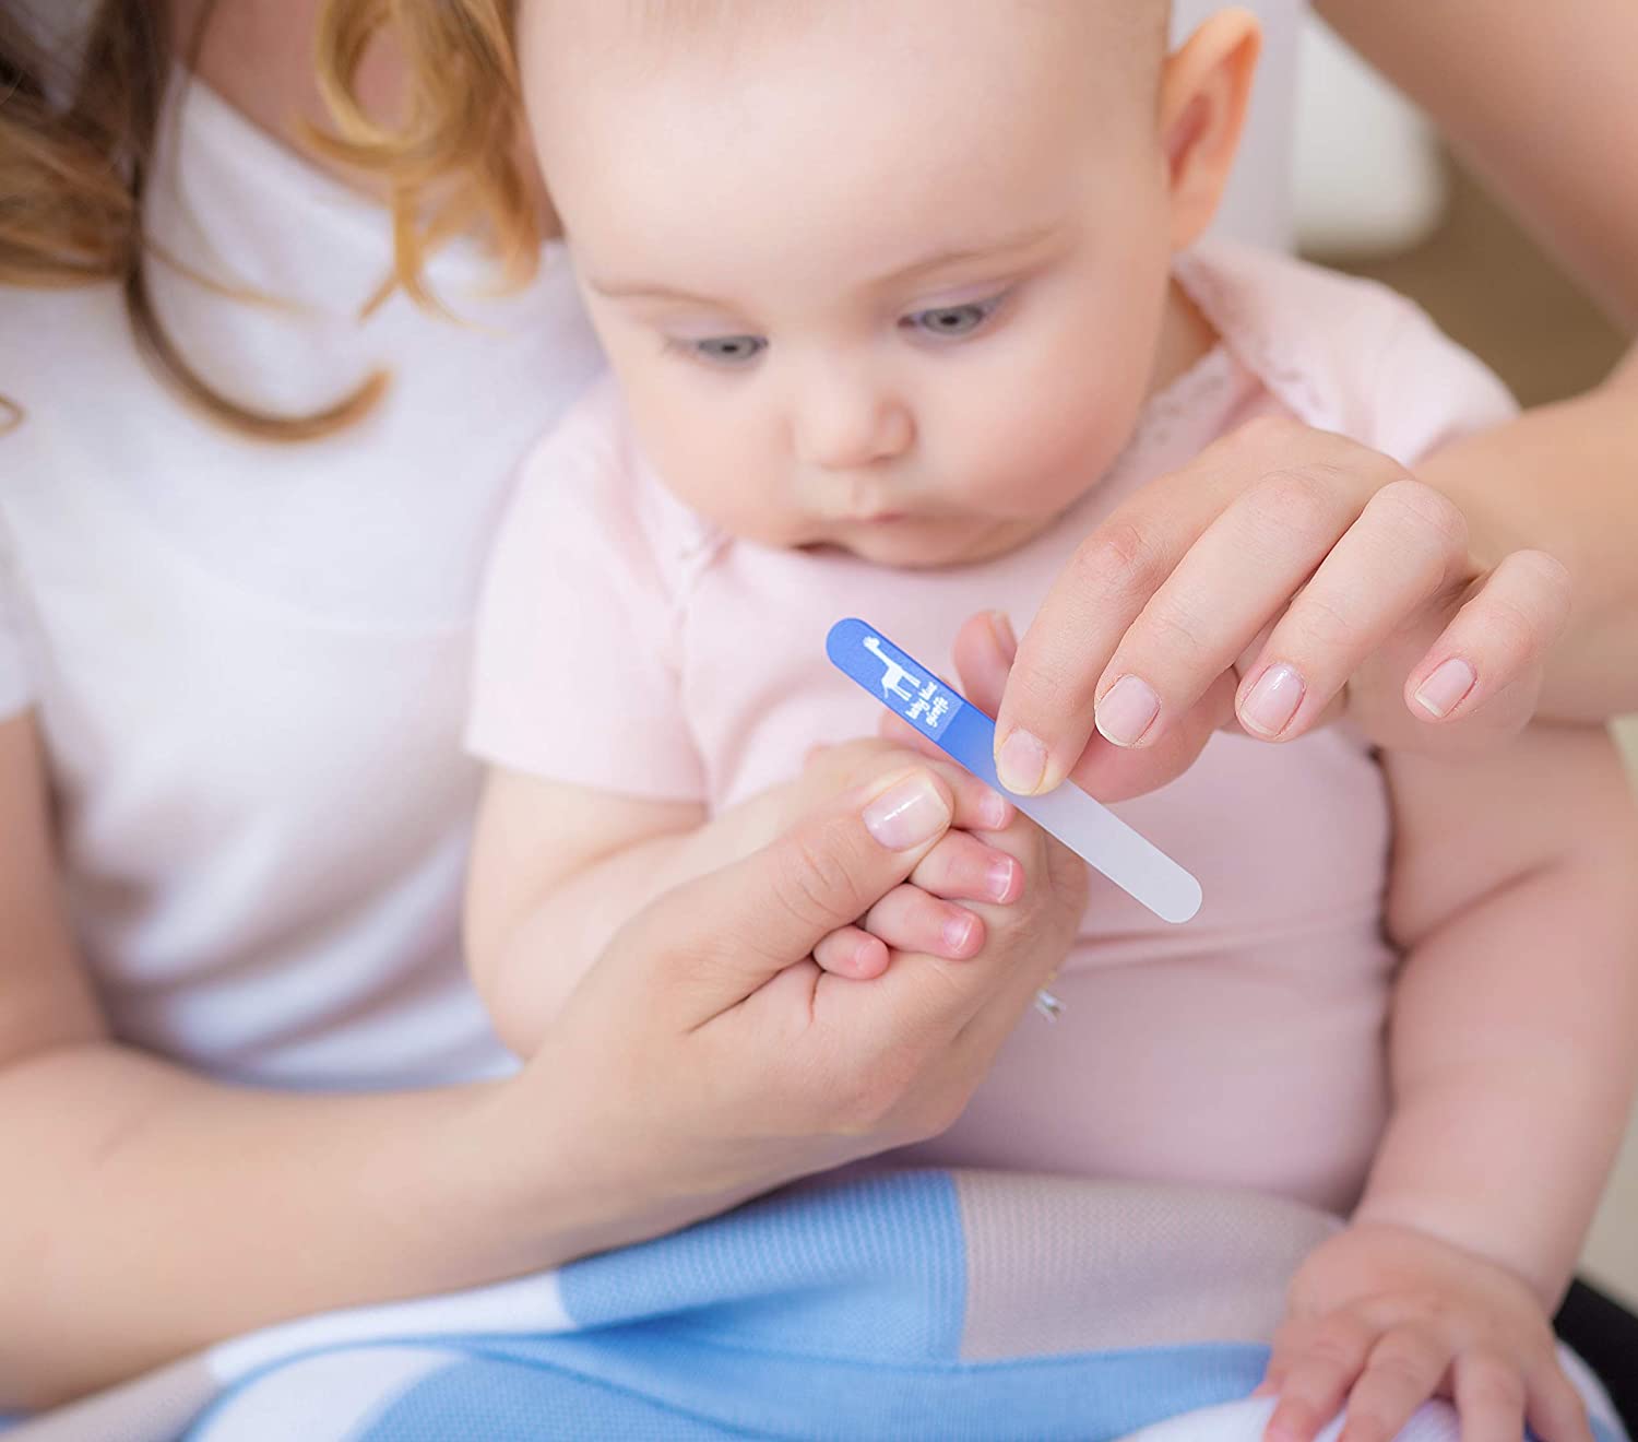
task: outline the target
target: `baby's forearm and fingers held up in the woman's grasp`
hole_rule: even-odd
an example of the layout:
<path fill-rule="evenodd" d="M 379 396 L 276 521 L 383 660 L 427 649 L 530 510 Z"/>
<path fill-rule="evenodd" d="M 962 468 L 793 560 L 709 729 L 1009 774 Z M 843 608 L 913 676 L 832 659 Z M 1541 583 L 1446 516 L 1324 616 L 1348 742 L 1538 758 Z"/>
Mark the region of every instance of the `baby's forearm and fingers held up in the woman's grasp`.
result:
<path fill-rule="evenodd" d="M 613 934 L 654 898 L 767 846 L 835 795 L 907 769 L 937 772 L 953 801 L 952 832 L 911 883 L 876 903 L 865 931 L 832 932 L 816 957 L 870 977 L 888 947 L 962 960 L 984 939 L 958 901 L 1011 903 L 1017 862 L 970 832 L 1001 831 L 1016 813 L 958 767 L 868 739 L 827 747 L 803 775 L 706 819 L 695 801 L 655 801 L 493 769 L 478 809 L 467 883 L 465 942 L 495 1026 L 531 1055 L 547 1023 Z"/>

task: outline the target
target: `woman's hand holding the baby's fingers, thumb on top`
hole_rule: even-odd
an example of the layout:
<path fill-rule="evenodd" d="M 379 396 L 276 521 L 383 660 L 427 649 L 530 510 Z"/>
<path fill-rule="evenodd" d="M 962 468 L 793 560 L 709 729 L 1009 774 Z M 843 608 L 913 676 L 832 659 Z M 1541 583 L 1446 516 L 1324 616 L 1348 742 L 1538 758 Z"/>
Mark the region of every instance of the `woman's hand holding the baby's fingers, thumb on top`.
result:
<path fill-rule="evenodd" d="M 1016 821 L 986 842 L 1019 865 L 1022 896 L 970 903 L 976 955 L 896 952 L 870 982 L 812 959 L 932 855 L 952 816 L 939 777 L 901 769 L 616 936 L 496 1096 L 506 1180 L 534 1168 L 554 1250 L 655 1236 L 955 1121 L 1070 947 L 1081 862 Z"/>

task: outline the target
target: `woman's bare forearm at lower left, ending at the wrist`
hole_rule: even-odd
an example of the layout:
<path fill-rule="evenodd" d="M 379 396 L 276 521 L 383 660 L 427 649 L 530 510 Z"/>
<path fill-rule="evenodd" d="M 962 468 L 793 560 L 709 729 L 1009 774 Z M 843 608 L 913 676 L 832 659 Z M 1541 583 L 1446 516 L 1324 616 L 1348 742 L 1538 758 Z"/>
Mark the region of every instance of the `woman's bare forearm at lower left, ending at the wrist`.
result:
<path fill-rule="evenodd" d="M 303 1313 L 560 1260 L 577 1219 L 495 1162 L 521 1150 L 491 1137 L 505 1085 L 251 1091 L 111 1044 L 7 1067 L 0 1413 Z M 550 1157 L 552 1118 L 527 1144 Z M 542 1242 L 559 1222 L 560 1247 Z"/>

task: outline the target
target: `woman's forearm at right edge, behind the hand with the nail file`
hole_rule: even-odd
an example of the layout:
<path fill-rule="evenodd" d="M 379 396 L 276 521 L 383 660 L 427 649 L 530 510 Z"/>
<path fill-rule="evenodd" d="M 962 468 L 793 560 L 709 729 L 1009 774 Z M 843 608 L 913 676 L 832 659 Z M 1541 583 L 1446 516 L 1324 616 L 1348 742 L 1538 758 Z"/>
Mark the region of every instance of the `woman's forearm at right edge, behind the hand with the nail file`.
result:
<path fill-rule="evenodd" d="M 1569 567 L 1543 714 L 1638 710 L 1638 351 L 1597 390 L 1456 441 L 1417 474 L 1461 505 L 1486 562 L 1535 547 Z"/>

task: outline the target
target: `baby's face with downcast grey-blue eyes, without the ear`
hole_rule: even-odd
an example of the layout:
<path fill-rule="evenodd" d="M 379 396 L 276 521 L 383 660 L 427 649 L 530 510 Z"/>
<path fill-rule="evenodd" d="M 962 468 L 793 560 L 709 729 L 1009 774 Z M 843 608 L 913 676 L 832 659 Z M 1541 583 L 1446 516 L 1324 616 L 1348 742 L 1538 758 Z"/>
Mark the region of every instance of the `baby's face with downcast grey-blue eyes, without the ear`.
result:
<path fill-rule="evenodd" d="M 547 184 L 670 490 L 767 546 L 930 567 L 1099 478 L 1171 254 L 1130 8 L 526 3 Z"/>

